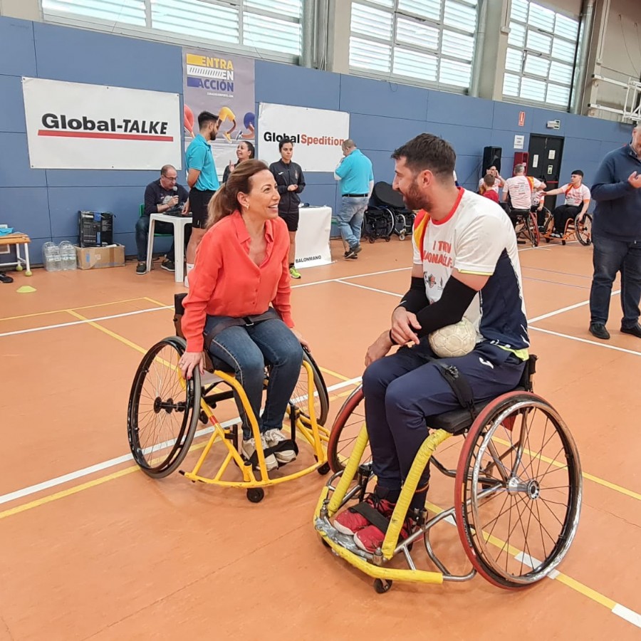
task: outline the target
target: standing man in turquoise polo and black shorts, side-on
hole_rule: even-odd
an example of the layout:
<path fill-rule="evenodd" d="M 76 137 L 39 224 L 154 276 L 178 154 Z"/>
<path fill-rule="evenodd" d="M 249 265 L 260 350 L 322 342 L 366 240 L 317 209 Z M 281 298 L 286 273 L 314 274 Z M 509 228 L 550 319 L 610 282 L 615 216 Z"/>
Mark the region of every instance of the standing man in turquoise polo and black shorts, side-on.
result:
<path fill-rule="evenodd" d="M 196 249 L 202 240 L 207 226 L 207 207 L 212 196 L 220 187 L 214 155 L 209 141 L 215 140 L 220 127 L 220 120 L 217 115 L 203 111 L 198 115 L 199 134 L 189 143 L 185 153 L 185 164 L 187 165 L 187 184 L 189 201 L 185 209 L 192 212 L 192 236 L 187 245 L 187 275 L 184 277 L 184 285 L 189 287 L 189 272 L 194 269 L 196 261 Z"/>

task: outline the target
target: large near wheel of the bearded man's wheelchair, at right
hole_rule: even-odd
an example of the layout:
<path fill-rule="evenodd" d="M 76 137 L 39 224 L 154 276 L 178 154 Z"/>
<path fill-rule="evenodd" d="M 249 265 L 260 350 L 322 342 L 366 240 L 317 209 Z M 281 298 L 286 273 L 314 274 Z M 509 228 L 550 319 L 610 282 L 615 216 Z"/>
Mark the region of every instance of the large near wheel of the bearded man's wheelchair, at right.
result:
<path fill-rule="evenodd" d="M 556 410 L 509 392 L 472 424 L 454 501 L 463 547 L 500 588 L 524 588 L 561 563 L 575 536 L 582 477 L 574 440 Z"/>

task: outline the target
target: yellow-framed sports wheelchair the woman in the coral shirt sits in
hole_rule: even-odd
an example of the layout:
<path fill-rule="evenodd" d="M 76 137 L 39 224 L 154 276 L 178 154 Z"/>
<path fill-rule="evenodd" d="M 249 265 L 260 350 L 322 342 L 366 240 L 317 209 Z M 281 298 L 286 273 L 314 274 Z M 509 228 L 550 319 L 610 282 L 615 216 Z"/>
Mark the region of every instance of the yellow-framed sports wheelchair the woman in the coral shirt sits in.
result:
<path fill-rule="evenodd" d="M 194 482 L 245 488 L 252 503 L 259 503 L 264 498 L 266 486 L 297 479 L 314 470 L 327 474 L 330 471 L 326 452 L 329 431 L 323 425 L 328 415 L 329 398 L 323 375 L 311 354 L 303 351 L 301 375 L 286 412 L 290 439 L 281 442 L 278 448 L 264 449 L 254 412 L 231 368 L 223 367 L 222 363 L 216 363 L 219 368 L 214 368 L 209 353 L 204 352 L 205 374 L 201 376 L 196 368 L 192 378 L 184 380 L 178 367 L 186 348 L 180 327 L 184 296 L 186 294 L 177 294 L 174 301 L 177 335 L 160 340 L 147 351 L 133 380 L 127 410 L 127 436 L 135 462 L 146 474 L 160 479 L 179 467 L 190 448 L 202 447 L 201 443 L 192 448 L 194 437 L 210 434 L 194 469 L 181 470 L 180 473 Z M 265 388 L 269 382 L 269 370 L 267 365 Z M 240 419 L 236 407 L 227 410 L 231 410 L 234 417 L 229 421 L 219 422 L 214 415 L 214 409 L 220 403 L 234 397 L 244 407 L 256 439 L 256 452 L 251 459 L 247 459 L 239 449 Z M 197 431 L 199 422 L 207 427 Z M 297 434 L 311 446 L 313 464 L 286 476 L 276 474 L 278 470 L 275 470 L 270 476 L 266 457 L 283 447 L 298 454 Z M 214 447 L 216 444 L 219 447 Z M 208 459 L 210 462 L 206 465 Z M 212 465 L 214 474 L 206 476 L 202 469 L 211 469 Z"/>

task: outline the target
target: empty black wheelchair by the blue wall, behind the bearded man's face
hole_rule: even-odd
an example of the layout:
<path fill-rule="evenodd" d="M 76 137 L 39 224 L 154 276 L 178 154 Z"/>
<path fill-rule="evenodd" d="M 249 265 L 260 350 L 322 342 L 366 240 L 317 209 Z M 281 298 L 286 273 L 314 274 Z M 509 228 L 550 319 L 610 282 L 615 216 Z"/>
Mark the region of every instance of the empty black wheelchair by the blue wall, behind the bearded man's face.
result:
<path fill-rule="evenodd" d="M 414 212 L 405 207 L 403 197 L 390 183 L 377 182 L 365 210 L 363 236 L 370 243 L 379 238 L 389 242 L 392 234 L 396 234 L 399 240 L 405 240 L 408 234 L 412 234 L 414 218 Z"/>

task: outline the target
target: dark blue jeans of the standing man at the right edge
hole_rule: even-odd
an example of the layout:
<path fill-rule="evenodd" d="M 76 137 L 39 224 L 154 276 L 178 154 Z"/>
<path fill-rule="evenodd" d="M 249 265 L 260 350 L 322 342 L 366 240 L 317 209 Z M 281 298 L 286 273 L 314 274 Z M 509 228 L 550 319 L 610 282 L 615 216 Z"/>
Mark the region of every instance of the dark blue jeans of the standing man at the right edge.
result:
<path fill-rule="evenodd" d="M 622 327 L 639 322 L 641 298 L 641 242 L 617 241 L 593 236 L 594 275 L 590 289 L 590 323 L 608 322 L 612 283 L 621 272 Z"/>

